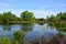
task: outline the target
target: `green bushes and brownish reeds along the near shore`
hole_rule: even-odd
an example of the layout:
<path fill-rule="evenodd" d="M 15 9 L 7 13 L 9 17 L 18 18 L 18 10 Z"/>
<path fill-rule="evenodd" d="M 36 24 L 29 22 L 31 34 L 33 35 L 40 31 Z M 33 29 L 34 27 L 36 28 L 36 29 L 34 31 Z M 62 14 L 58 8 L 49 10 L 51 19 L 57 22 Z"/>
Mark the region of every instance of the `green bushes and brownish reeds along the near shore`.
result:
<path fill-rule="evenodd" d="M 66 40 L 63 38 L 63 34 L 58 33 L 47 41 L 41 36 L 38 40 L 35 38 L 32 42 L 24 42 L 25 34 L 21 31 L 14 32 L 14 38 L 0 37 L 0 44 L 66 44 Z"/>

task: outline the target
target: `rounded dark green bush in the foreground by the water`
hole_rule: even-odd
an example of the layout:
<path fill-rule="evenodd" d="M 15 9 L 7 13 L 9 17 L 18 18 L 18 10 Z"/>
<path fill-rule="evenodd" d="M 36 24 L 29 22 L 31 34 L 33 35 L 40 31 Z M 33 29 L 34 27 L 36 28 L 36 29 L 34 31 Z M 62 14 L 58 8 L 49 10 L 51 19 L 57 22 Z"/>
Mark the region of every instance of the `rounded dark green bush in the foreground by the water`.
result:
<path fill-rule="evenodd" d="M 25 33 L 23 33 L 21 31 L 16 31 L 16 32 L 14 32 L 13 35 L 14 35 L 15 42 L 19 42 L 20 44 L 23 43 L 23 38 L 24 38 Z"/>

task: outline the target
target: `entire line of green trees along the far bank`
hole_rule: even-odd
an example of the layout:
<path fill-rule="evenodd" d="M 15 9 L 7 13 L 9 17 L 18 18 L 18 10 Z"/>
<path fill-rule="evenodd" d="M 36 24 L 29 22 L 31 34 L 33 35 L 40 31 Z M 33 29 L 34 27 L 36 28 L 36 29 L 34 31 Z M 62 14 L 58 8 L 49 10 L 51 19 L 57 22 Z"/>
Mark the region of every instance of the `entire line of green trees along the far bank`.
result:
<path fill-rule="evenodd" d="M 36 19 L 34 16 L 33 12 L 30 11 L 23 11 L 20 14 L 20 18 L 16 16 L 15 14 L 13 14 L 12 12 L 8 11 L 8 12 L 3 12 L 0 13 L 0 24 L 12 24 L 12 23 L 44 23 L 44 22 L 65 22 L 66 21 L 66 12 L 59 12 L 56 15 L 52 14 L 51 16 L 46 16 L 46 19 L 41 18 L 41 19 Z"/>

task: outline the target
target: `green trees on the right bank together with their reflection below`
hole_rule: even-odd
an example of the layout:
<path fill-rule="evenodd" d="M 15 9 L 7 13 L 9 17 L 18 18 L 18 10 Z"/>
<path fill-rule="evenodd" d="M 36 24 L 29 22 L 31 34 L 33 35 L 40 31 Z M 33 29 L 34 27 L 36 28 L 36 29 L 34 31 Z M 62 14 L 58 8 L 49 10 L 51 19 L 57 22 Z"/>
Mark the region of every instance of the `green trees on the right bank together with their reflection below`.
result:
<path fill-rule="evenodd" d="M 56 15 L 47 16 L 47 22 L 51 26 L 57 28 L 59 31 L 66 31 L 66 12 L 59 12 Z"/>

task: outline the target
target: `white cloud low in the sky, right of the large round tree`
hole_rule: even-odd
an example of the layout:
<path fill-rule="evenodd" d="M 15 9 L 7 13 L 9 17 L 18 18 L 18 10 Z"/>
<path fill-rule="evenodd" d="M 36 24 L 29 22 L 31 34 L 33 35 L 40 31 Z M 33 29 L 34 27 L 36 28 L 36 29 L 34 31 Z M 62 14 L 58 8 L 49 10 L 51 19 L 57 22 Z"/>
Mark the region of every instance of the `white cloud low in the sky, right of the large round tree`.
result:
<path fill-rule="evenodd" d="M 58 13 L 59 11 L 47 11 L 47 10 L 32 10 L 32 12 L 34 12 L 36 18 L 46 18 L 47 15 L 54 14 L 56 15 L 56 13 Z"/>

